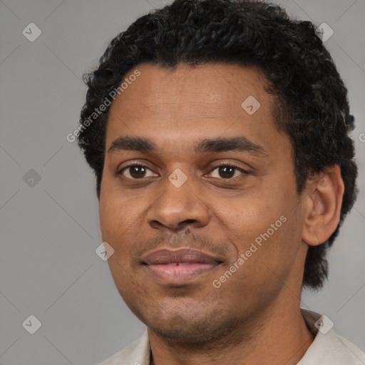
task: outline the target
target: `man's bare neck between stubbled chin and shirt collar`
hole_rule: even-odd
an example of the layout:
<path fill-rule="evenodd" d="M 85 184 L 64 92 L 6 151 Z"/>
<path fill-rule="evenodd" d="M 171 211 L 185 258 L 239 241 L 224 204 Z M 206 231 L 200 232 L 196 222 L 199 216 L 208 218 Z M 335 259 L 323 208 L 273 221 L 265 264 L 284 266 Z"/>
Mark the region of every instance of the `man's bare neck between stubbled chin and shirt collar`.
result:
<path fill-rule="evenodd" d="M 287 304 L 287 300 L 277 302 L 252 323 L 237 326 L 224 339 L 207 346 L 187 348 L 176 343 L 172 346 L 171 341 L 148 328 L 152 349 L 150 365 L 206 365 L 212 362 L 222 365 L 231 365 L 232 362 L 237 365 L 295 365 L 312 344 L 314 336 L 302 317 L 299 300 L 291 302 L 291 307 Z"/>

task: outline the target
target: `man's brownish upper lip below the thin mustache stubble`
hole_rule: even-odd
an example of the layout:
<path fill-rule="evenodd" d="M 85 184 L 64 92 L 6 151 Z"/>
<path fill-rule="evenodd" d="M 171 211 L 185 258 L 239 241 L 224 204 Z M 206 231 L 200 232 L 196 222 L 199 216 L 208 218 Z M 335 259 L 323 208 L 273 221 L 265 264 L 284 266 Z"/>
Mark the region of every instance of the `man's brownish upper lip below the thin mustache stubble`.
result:
<path fill-rule="evenodd" d="M 161 249 L 150 252 L 142 258 L 144 264 L 168 264 L 170 262 L 202 262 L 220 264 L 221 262 L 204 252 L 192 249 Z"/>

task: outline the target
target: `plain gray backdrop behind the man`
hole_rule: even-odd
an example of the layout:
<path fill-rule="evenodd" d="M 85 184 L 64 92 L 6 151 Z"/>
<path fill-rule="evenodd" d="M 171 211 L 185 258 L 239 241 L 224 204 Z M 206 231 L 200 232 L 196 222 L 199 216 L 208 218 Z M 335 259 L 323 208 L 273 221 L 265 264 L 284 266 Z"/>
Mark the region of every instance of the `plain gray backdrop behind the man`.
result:
<path fill-rule="evenodd" d="M 85 100 L 82 73 L 97 65 L 114 36 L 166 2 L 0 1 L 2 365 L 96 364 L 143 333 L 107 262 L 96 255 L 101 239 L 93 174 L 66 135 L 76 128 Z M 326 45 L 349 88 L 364 181 L 365 1 L 279 4 L 334 29 Z M 42 31 L 34 42 L 22 34 L 31 22 Z M 31 169 L 41 177 L 33 187 L 23 178 Z M 329 282 L 302 298 L 302 307 L 327 314 L 363 351 L 364 199 L 362 190 L 330 252 Z M 30 314 L 42 324 L 33 335 L 22 327 Z"/>

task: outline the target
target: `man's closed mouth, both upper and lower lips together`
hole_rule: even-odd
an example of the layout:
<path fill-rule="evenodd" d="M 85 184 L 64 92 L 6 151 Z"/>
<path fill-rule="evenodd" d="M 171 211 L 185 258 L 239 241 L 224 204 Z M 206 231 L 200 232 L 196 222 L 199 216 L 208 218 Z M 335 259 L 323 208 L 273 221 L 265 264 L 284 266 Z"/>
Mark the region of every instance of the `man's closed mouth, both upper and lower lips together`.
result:
<path fill-rule="evenodd" d="M 191 249 L 158 250 L 141 262 L 148 274 L 160 284 L 183 285 L 212 271 L 222 262 L 201 251 Z"/>

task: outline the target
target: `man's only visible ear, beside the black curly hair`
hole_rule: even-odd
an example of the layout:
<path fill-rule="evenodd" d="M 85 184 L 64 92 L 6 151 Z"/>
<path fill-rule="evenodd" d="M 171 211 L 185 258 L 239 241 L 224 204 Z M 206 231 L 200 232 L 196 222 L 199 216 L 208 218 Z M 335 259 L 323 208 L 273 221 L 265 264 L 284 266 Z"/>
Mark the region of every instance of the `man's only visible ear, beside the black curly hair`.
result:
<path fill-rule="evenodd" d="M 344 182 L 338 165 L 315 173 L 304 190 L 302 240 L 317 246 L 328 240 L 339 224 Z"/>

